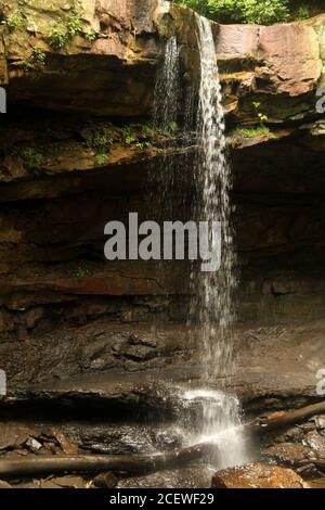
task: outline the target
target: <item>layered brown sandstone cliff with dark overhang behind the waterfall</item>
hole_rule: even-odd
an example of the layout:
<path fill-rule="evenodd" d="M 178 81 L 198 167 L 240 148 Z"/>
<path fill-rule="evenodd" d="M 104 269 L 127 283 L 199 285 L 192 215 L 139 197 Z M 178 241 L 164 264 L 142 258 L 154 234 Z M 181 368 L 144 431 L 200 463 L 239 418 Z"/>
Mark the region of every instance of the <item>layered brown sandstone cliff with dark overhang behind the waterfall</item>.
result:
<path fill-rule="evenodd" d="M 194 13 L 158 0 L 13 0 L 0 1 L 0 14 L 9 100 L 0 126 L 0 350 L 12 395 L 17 383 L 64 374 L 181 366 L 195 349 L 173 329 L 186 319 L 188 268 L 108 264 L 103 232 L 128 212 L 155 218 L 159 190 L 146 184 L 161 161 L 178 168 L 174 199 L 191 203 L 193 140 L 184 146 L 181 133 L 148 124 L 166 37 L 177 34 L 181 46 L 181 90 L 198 80 Z M 248 329 L 240 334 L 251 352 L 257 337 L 264 355 L 260 336 L 292 343 L 299 356 L 299 323 L 324 315 L 325 119 L 315 112 L 324 27 L 325 15 L 213 25 L 234 175 L 238 317 Z M 236 131 L 260 127 L 259 114 L 270 131 Z M 157 322 L 162 332 L 172 323 L 165 336 L 153 337 Z M 275 327 L 292 322 L 298 329 L 284 334 Z M 315 328 L 318 354 L 324 333 Z M 249 372 L 252 385 L 262 368 L 257 361 Z"/>

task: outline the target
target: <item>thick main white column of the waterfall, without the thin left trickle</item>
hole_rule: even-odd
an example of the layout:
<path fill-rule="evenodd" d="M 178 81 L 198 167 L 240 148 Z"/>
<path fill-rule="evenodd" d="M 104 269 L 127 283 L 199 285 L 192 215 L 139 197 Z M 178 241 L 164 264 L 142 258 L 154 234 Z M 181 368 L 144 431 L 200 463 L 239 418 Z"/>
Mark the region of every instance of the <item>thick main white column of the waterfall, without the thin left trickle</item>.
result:
<path fill-rule="evenodd" d="M 236 288 L 235 255 L 231 227 L 230 190 L 232 176 L 225 157 L 225 126 L 222 90 L 216 58 L 211 23 L 197 15 L 197 40 L 200 55 L 198 104 L 198 146 L 196 164 L 197 219 L 219 220 L 222 226 L 222 263 L 218 272 L 193 272 L 196 296 L 192 299 L 191 319 L 199 322 L 196 341 L 200 344 L 202 378 L 205 385 L 219 387 L 234 370 L 233 297 Z M 200 439 L 222 437 L 221 467 L 239 464 L 245 460 L 245 447 L 236 426 L 240 423 L 239 401 L 222 391 L 195 390 L 185 398 L 202 401 Z"/>

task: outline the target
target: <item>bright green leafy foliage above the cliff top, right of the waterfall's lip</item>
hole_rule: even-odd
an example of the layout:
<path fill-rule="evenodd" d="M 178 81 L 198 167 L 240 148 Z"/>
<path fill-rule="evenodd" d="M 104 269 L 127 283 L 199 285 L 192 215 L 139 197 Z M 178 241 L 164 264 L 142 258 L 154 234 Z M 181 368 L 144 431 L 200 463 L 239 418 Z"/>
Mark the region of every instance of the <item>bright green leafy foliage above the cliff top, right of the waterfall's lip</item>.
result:
<path fill-rule="evenodd" d="M 290 17 L 289 0 L 174 0 L 220 23 L 258 23 L 271 25 Z M 300 8 L 298 18 L 308 17 L 308 8 Z"/>

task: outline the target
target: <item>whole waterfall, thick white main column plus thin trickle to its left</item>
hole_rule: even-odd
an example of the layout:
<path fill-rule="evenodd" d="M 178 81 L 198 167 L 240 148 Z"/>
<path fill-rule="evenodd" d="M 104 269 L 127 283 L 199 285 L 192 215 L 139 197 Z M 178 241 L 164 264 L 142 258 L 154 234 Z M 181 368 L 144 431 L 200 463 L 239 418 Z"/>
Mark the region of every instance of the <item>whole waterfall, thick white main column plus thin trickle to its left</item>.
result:
<path fill-rule="evenodd" d="M 193 217 L 188 219 L 221 221 L 222 260 L 221 269 L 217 272 L 202 272 L 196 265 L 191 275 L 195 293 L 191 299 L 187 326 L 190 335 L 195 335 L 193 340 L 200 353 L 198 370 L 202 387 L 185 392 L 184 405 L 194 403 L 200 407 L 199 433 L 192 436 L 191 441 L 216 437 L 218 467 L 225 468 L 238 466 L 246 460 L 245 444 L 236 429 L 240 423 L 240 405 L 235 396 L 227 394 L 223 383 L 234 371 L 234 291 L 237 282 L 231 227 L 232 175 L 225 156 L 222 90 L 212 25 L 197 15 L 196 28 L 200 65 L 196 119 L 198 153 L 193 174 L 196 189 Z M 156 87 L 155 119 L 159 119 L 164 126 L 178 118 L 178 60 L 177 37 L 172 37 L 166 46 L 165 62 Z M 186 129 L 186 112 L 183 129 Z M 160 189 L 162 203 L 166 202 L 168 188 L 173 186 L 173 171 L 170 163 L 164 168 L 165 183 Z M 177 219 L 179 218 L 173 218 Z"/>

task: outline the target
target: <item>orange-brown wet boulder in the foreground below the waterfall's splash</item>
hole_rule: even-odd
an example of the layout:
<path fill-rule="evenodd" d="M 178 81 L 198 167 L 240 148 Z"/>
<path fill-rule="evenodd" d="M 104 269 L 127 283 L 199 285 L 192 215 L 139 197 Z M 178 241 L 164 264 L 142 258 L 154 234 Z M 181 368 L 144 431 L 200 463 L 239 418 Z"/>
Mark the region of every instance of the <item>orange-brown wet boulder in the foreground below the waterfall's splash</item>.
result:
<path fill-rule="evenodd" d="M 309 488 L 294 471 L 269 464 L 251 463 L 219 471 L 212 488 Z"/>

